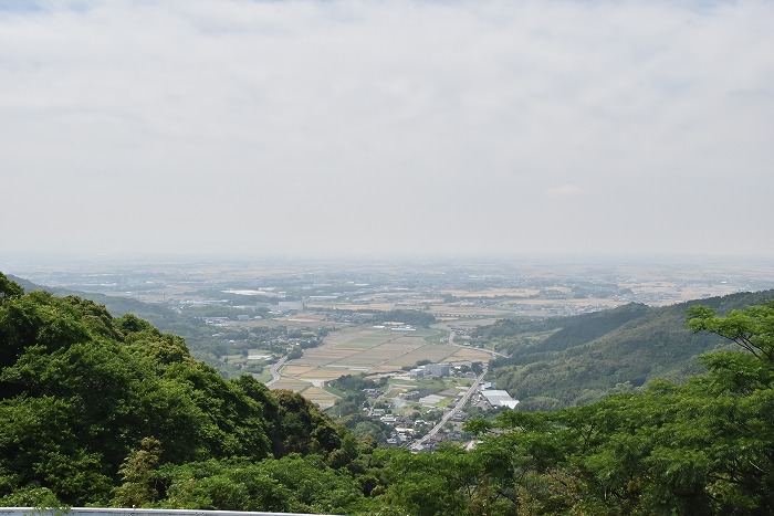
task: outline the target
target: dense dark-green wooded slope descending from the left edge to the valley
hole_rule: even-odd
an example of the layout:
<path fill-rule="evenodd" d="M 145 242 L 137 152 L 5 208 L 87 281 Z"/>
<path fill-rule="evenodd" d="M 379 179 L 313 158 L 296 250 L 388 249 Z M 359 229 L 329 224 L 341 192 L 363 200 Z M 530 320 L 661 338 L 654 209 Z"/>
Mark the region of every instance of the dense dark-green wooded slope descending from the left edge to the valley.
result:
<path fill-rule="evenodd" d="M 224 380 L 182 338 L 134 315 L 24 294 L 2 274 L 0 421 L 0 505 L 40 489 L 74 505 L 121 501 L 137 454 L 169 465 L 291 453 L 337 463 L 348 435 L 299 394 Z"/>

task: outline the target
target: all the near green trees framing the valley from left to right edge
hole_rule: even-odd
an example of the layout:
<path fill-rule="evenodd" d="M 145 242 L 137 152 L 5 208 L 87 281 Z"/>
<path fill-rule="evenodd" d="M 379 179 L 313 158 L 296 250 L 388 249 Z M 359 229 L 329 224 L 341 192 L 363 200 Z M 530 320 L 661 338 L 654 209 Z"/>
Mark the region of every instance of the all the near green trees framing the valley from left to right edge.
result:
<path fill-rule="evenodd" d="M 774 302 L 689 328 L 705 373 L 584 407 L 467 424 L 470 451 L 357 441 L 181 338 L 0 274 L 0 506 L 363 515 L 774 513 Z M 629 323 L 634 323 L 631 319 Z"/>

